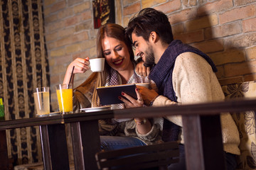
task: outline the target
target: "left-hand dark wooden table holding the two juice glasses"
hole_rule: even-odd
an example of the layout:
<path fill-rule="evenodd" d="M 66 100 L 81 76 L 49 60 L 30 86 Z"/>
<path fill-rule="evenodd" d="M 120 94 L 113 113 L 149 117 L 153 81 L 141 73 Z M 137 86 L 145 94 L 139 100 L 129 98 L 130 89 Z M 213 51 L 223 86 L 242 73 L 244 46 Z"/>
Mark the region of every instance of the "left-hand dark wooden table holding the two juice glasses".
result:
<path fill-rule="evenodd" d="M 75 169 L 97 169 L 95 153 L 100 151 L 97 120 L 113 118 L 112 111 L 55 115 L 0 122 L 0 169 L 9 169 L 6 130 L 39 125 L 44 169 L 70 169 L 65 123 L 70 123 Z"/>

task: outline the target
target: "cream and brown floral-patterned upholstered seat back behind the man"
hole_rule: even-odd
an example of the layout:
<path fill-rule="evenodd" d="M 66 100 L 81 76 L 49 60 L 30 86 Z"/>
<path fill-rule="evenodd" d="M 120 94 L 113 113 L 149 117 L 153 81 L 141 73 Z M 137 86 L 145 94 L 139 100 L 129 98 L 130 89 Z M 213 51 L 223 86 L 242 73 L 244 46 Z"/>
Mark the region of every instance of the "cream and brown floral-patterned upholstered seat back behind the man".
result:
<path fill-rule="evenodd" d="M 237 84 L 228 84 L 222 86 L 225 99 L 229 98 L 255 98 L 256 81 L 245 81 Z M 256 111 L 243 111 L 231 113 L 235 124 L 238 127 L 240 135 L 240 156 L 238 157 L 237 169 L 255 169 L 256 167 Z"/>

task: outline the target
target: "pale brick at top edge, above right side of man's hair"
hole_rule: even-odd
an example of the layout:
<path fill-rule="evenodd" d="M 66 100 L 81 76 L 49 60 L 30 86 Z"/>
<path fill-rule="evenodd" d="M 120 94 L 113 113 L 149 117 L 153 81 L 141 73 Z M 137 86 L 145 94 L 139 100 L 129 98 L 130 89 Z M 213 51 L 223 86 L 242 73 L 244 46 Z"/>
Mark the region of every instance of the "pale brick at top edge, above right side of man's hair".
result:
<path fill-rule="evenodd" d="M 178 11 L 179 9 L 181 9 L 181 0 L 169 1 L 154 8 L 156 10 L 162 11 L 163 13 Z"/>

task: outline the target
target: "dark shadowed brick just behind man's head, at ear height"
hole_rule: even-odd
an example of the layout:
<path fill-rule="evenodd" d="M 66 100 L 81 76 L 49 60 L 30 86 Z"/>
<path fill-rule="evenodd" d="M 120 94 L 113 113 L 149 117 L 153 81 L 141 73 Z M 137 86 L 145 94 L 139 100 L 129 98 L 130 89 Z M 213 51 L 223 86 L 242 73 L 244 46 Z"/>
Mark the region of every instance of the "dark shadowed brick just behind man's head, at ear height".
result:
<path fill-rule="evenodd" d="M 174 39 L 181 40 L 184 43 L 200 42 L 203 40 L 203 30 L 197 30 L 190 33 L 181 33 L 175 35 Z"/>

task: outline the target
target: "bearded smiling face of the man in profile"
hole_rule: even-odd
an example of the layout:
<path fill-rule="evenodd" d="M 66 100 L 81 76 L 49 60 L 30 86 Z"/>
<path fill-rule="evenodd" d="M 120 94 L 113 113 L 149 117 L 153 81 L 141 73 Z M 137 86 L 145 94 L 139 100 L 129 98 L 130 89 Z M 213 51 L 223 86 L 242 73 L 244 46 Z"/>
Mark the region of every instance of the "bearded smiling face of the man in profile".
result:
<path fill-rule="evenodd" d="M 155 57 L 152 46 L 142 36 L 132 33 L 132 42 L 135 47 L 135 55 L 142 57 L 145 67 L 155 64 Z"/>

